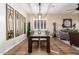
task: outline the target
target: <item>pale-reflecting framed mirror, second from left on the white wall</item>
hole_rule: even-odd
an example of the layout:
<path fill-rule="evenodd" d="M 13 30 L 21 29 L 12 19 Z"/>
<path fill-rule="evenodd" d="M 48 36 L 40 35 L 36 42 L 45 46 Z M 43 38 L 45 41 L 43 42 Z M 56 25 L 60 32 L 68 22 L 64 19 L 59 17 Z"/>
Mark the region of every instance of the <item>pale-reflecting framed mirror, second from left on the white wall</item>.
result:
<path fill-rule="evenodd" d="M 25 17 L 18 11 L 15 11 L 15 35 L 19 36 L 24 34 L 24 20 Z"/>

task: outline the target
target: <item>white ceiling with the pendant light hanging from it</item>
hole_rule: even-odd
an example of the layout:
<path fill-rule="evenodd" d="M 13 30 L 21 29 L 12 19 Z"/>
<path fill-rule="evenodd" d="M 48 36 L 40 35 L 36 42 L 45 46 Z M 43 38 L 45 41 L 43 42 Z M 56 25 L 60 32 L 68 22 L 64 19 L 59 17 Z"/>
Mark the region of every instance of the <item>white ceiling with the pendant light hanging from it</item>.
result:
<path fill-rule="evenodd" d="M 39 3 L 16 3 L 17 7 L 28 14 L 39 14 Z M 77 8 L 77 3 L 41 3 L 41 14 L 79 14 L 79 11 L 72 12 L 70 9 Z M 68 11 L 69 10 L 69 11 Z"/>

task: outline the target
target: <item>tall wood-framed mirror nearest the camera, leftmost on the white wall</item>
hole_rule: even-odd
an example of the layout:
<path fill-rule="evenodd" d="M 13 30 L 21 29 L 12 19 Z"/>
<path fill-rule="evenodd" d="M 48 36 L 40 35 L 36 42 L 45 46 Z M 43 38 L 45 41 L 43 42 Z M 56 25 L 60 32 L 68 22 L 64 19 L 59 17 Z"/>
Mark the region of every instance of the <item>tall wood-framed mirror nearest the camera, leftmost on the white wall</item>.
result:
<path fill-rule="evenodd" d="M 6 4 L 6 32 L 7 39 L 14 37 L 14 9 Z"/>

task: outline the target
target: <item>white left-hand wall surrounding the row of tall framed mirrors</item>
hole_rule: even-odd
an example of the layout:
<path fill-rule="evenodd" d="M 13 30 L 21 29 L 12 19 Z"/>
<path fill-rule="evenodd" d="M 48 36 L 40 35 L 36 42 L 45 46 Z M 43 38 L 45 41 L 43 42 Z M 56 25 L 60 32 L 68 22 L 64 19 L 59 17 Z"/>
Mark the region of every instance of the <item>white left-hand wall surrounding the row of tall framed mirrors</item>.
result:
<path fill-rule="evenodd" d="M 23 10 L 16 7 L 16 4 L 9 5 L 26 17 L 26 14 L 23 12 Z M 7 52 L 24 39 L 26 39 L 26 34 L 6 40 L 6 4 L 0 3 L 0 54 Z"/>

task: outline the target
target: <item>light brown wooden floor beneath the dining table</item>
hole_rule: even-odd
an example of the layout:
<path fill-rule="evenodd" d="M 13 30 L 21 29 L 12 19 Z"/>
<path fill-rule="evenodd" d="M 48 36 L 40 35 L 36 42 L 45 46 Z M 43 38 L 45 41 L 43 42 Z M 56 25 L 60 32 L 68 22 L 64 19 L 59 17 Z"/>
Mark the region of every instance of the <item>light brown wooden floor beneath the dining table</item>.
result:
<path fill-rule="evenodd" d="M 28 53 L 28 41 L 24 40 L 19 45 L 5 53 L 5 55 L 79 55 L 79 51 L 63 43 L 61 40 L 53 38 L 51 42 L 51 52 L 46 52 L 45 46 L 37 47 L 33 44 L 33 52 Z"/>

